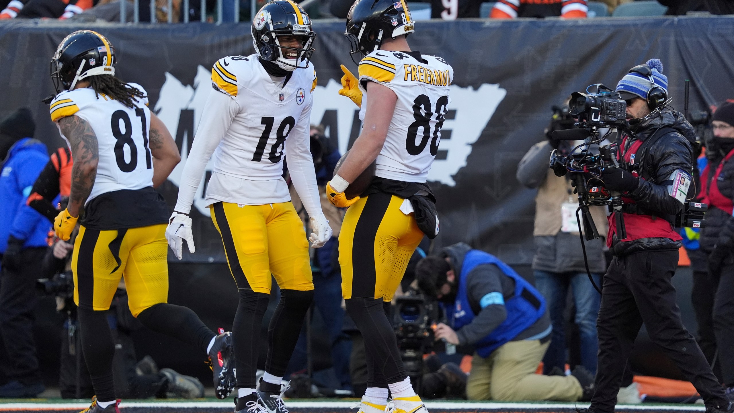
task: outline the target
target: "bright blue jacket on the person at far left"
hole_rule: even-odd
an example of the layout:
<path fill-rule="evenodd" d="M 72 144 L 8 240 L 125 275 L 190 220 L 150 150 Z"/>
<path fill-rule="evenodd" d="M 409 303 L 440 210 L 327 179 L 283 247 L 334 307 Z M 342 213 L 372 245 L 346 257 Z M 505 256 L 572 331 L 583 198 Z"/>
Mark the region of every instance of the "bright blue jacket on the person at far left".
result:
<path fill-rule="evenodd" d="M 7 248 L 9 235 L 25 240 L 23 248 L 48 246 L 51 223 L 26 205 L 46 162 L 46 145 L 30 137 L 18 140 L 8 151 L 0 173 L 0 254 Z"/>

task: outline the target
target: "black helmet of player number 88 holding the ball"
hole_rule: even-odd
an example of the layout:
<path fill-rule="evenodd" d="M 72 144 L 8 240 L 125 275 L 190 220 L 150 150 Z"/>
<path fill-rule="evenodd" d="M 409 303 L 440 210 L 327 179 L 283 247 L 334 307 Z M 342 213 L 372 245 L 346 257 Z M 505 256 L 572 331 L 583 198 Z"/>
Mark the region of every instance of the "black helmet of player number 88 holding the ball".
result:
<path fill-rule="evenodd" d="M 379 49 L 385 36 L 392 38 L 415 31 L 406 0 L 357 0 L 346 15 L 344 35 L 352 54 L 364 56 Z"/>

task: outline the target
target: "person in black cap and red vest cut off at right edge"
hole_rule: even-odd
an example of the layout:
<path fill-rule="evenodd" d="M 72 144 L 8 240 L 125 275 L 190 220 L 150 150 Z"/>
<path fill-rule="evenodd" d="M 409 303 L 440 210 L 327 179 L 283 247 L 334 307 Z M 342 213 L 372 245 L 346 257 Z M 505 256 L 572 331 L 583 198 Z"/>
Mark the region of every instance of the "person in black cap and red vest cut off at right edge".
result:
<path fill-rule="evenodd" d="M 734 103 L 713 112 L 713 145 L 706 152 L 711 163 L 702 173 L 702 202 L 708 204 L 700 245 L 708 254 L 708 286 L 716 351 L 724 387 L 734 390 Z M 711 306 L 713 304 L 713 308 Z"/>

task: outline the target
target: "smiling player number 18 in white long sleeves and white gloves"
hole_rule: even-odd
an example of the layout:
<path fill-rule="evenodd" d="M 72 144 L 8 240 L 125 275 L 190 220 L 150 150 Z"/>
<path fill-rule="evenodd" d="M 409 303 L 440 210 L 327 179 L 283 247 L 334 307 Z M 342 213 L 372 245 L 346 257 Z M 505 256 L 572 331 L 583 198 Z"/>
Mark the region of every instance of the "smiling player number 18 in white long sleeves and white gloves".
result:
<path fill-rule="evenodd" d="M 176 256 L 181 258 L 183 240 L 189 251 L 195 251 L 189 212 L 206 164 L 214 156 L 205 200 L 239 290 L 232 328 L 236 412 L 287 412 L 281 381 L 313 299 L 308 241 L 319 248 L 332 234 L 321 212 L 309 148 L 311 93 L 316 87 L 310 63 L 313 37 L 301 7 L 290 0 L 270 1 L 252 21 L 256 53 L 214 63 L 213 88 L 166 231 Z M 310 217 L 308 240 L 282 177 L 284 158 Z M 280 303 L 269 326 L 258 401 L 255 367 L 271 273 L 280 286 Z"/>

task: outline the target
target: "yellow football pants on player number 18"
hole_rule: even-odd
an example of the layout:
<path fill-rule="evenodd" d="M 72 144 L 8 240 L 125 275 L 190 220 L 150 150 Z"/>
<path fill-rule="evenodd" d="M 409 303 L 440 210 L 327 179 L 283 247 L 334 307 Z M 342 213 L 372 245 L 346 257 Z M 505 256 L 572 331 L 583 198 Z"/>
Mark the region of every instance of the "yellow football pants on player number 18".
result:
<path fill-rule="evenodd" d="M 271 273 L 280 288 L 313 290 L 306 231 L 291 202 L 217 202 L 209 209 L 239 290 L 269 294 Z"/>

